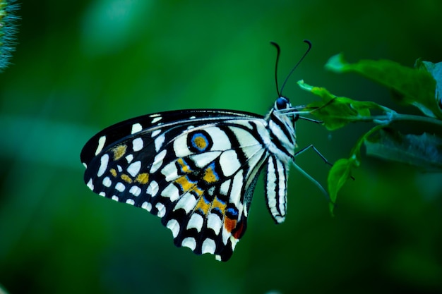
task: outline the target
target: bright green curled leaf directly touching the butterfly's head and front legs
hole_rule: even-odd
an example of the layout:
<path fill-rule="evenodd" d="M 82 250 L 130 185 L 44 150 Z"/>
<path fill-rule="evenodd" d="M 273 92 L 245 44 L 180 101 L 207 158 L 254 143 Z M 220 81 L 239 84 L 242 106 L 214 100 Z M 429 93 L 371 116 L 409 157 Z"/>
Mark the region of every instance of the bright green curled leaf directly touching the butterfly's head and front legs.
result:
<path fill-rule="evenodd" d="M 307 105 L 306 110 L 313 109 L 311 114 L 323 121 L 323 125 L 328 130 L 336 130 L 348 123 L 369 119 L 371 110 L 391 111 L 374 102 L 361 102 L 347 97 L 337 97 L 323 87 L 313 87 L 306 84 L 304 80 L 299 80 L 298 85 L 301 89 L 322 98 L 322 101 Z"/>

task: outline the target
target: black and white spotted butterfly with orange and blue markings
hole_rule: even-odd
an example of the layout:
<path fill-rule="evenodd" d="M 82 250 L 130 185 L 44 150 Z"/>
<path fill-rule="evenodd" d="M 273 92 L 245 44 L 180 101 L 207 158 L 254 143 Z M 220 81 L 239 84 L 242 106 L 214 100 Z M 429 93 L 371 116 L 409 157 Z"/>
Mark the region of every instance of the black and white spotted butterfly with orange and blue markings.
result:
<path fill-rule="evenodd" d="M 105 128 L 81 151 L 84 181 L 98 195 L 159 216 L 178 247 L 227 261 L 246 231 L 263 169 L 268 210 L 275 223 L 285 220 L 303 112 L 277 92 L 266 116 L 187 109 Z"/>

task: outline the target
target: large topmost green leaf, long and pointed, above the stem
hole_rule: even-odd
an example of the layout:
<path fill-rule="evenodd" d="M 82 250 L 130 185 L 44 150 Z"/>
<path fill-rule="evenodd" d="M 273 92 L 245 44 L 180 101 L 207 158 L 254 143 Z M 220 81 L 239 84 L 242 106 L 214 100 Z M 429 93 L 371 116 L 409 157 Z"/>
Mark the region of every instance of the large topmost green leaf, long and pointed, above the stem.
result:
<path fill-rule="evenodd" d="M 336 73 L 359 73 L 393 90 L 398 102 L 416 106 L 426 116 L 442 118 L 440 100 L 436 98 L 436 80 L 429 71 L 408 68 L 389 60 L 347 63 L 342 54 L 332 56 L 325 68 Z"/>

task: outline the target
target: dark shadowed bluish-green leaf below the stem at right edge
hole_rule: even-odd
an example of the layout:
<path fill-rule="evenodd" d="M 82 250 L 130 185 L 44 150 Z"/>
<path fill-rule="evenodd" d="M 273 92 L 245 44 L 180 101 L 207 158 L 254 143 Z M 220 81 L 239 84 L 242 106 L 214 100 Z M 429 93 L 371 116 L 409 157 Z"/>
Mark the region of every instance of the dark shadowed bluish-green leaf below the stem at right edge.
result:
<path fill-rule="evenodd" d="M 366 154 L 411 164 L 426 171 L 442 171 L 442 137 L 423 133 L 403 135 L 384 128 L 364 140 Z"/>

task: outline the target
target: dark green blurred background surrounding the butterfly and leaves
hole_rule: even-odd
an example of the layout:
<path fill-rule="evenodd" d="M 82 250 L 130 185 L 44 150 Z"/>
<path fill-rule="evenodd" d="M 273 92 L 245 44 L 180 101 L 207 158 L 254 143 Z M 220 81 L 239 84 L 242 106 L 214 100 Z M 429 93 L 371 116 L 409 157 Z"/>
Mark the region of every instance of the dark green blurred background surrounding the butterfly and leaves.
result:
<path fill-rule="evenodd" d="M 442 176 L 364 157 L 338 198 L 293 169 L 287 220 L 276 226 L 256 189 L 232 259 L 174 247 L 160 219 L 97 197 L 79 154 L 100 129 L 157 111 L 265 114 L 296 81 L 392 106 L 388 91 L 323 69 L 349 61 L 442 60 L 442 2 L 24 1 L 13 65 L 0 75 L 0 284 L 9 293 L 441 293 Z M 401 109 L 402 110 L 402 109 Z M 411 111 L 410 109 L 403 109 Z M 370 125 L 330 133 L 299 121 L 299 147 L 346 157 Z M 313 152 L 297 163 L 325 183 Z M 273 292 L 274 291 L 274 292 Z"/>

